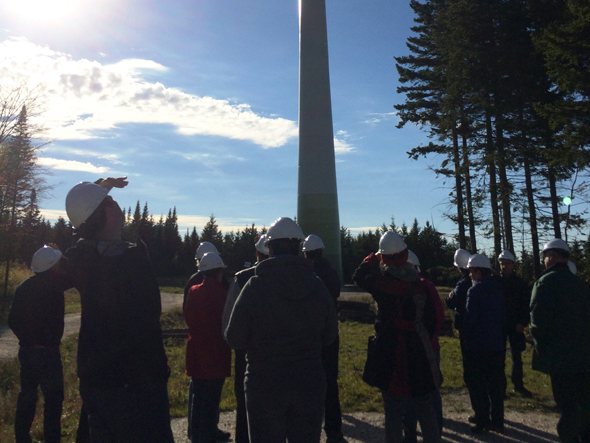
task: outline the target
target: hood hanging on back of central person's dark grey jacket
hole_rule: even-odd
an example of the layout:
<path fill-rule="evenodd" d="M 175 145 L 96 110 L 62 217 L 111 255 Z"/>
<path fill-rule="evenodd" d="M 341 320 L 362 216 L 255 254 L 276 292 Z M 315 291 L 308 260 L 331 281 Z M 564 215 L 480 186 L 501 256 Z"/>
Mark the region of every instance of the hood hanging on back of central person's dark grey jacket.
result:
<path fill-rule="evenodd" d="M 302 300 L 317 290 L 319 280 L 312 269 L 313 263 L 303 257 L 283 255 L 260 262 L 256 275 L 261 284 L 279 297 Z"/>

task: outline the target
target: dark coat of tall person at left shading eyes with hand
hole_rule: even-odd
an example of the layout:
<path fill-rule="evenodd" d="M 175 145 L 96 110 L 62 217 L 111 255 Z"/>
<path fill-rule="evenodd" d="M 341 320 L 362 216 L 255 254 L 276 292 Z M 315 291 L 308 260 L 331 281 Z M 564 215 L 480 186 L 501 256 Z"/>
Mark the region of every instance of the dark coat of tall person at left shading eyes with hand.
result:
<path fill-rule="evenodd" d="M 95 242 L 80 239 L 66 254 L 82 302 L 80 381 L 122 386 L 142 377 L 165 380 L 160 290 L 145 244 L 105 256 Z"/>

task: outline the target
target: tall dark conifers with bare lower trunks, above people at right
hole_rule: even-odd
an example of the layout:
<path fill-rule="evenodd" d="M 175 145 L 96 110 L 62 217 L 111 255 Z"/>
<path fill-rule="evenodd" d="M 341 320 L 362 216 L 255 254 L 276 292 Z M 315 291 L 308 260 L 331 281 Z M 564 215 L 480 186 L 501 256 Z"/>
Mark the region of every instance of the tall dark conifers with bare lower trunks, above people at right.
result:
<path fill-rule="evenodd" d="M 532 253 L 538 274 L 545 239 L 588 226 L 588 0 L 410 5 L 410 54 L 395 57 L 398 127 L 419 125 L 432 141 L 408 155 L 438 161 L 461 247 L 491 238 L 496 255 Z"/>

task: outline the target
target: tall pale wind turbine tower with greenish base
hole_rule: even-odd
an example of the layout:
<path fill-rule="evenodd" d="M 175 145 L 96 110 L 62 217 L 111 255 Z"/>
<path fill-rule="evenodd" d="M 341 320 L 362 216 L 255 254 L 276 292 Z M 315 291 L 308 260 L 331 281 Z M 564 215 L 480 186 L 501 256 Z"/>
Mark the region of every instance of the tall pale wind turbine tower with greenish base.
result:
<path fill-rule="evenodd" d="M 342 278 L 340 217 L 325 0 L 299 0 L 299 176 L 297 222 L 316 234 Z"/>

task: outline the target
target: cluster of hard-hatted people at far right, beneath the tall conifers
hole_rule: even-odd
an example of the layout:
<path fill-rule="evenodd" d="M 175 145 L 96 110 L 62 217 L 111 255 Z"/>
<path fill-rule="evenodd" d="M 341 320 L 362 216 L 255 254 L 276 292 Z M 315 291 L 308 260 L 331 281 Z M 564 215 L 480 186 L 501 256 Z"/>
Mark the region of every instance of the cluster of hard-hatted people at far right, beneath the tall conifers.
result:
<path fill-rule="evenodd" d="M 590 442 L 590 286 L 576 276 L 570 249 L 562 239 L 543 248 L 545 271 L 532 293 L 516 275 L 510 251 L 498 256 L 500 275 L 482 254 L 455 253 L 461 278 L 446 298 L 454 310 L 463 357 L 463 375 L 474 415 L 472 432 L 504 433 L 506 343 L 512 357 L 514 392 L 524 386 L 522 352 L 525 328 L 534 343 L 532 368 L 550 375 L 561 411 L 557 432 L 563 442 Z"/>

